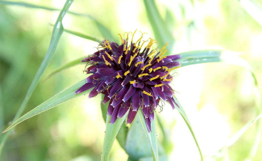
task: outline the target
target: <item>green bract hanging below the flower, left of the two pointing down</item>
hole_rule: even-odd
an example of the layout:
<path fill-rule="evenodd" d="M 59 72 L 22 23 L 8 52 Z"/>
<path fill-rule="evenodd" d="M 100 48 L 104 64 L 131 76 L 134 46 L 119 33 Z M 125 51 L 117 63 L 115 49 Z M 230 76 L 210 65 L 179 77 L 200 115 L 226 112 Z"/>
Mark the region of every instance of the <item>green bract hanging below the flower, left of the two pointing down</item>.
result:
<path fill-rule="evenodd" d="M 101 161 L 108 161 L 112 146 L 116 139 L 116 135 L 121 125 L 125 121 L 127 114 L 128 114 L 128 111 L 126 112 L 126 114 L 123 117 L 117 118 L 114 124 L 110 123 L 111 116 L 107 115 L 105 138 L 104 138 L 104 143 L 103 143 Z"/>

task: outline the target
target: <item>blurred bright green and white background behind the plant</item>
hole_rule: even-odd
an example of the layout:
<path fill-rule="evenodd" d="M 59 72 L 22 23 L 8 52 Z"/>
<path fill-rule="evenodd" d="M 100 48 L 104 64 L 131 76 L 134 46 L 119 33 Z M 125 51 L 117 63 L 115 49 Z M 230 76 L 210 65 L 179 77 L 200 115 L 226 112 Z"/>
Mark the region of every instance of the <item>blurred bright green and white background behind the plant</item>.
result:
<path fill-rule="evenodd" d="M 0 1 L 1 2 L 1 1 Z M 21 1 L 20 1 L 21 2 Z M 62 8 L 64 1 L 23 1 L 39 6 Z M 262 4 L 262 1 L 258 1 Z M 237 0 L 156 0 L 164 22 L 176 42 L 169 53 L 196 49 L 224 49 L 242 53 L 262 80 L 262 26 Z M 138 29 L 155 38 L 141 0 L 74 1 L 69 11 L 93 16 L 117 39 L 118 33 Z M 0 130 L 10 125 L 48 49 L 52 24 L 59 11 L 27 8 L 0 3 Z M 262 16 L 262 15 L 261 15 Z M 50 25 L 51 24 L 51 25 Z M 92 19 L 67 13 L 65 29 L 78 31 L 100 40 Z M 23 114 L 59 91 L 86 77 L 84 65 L 48 75 L 72 60 L 92 54 L 98 43 L 63 33 L 58 47 L 38 83 Z M 255 125 L 228 148 L 217 154 L 226 140 L 256 116 L 254 83 L 250 72 L 226 63 L 207 63 L 180 68 L 173 89 L 185 108 L 206 160 L 243 160 L 252 146 Z M 6 141 L 0 160 L 100 160 L 105 123 L 100 109 L 102 95 L 87 96 L 34 116 L 15 127 Z M 160 111 L 160 109 L 158 109 Z M 197 146 L 182 117 L 169 105 L 157 112 L 165 133 L 160 140 L 170 160 L 200 160 Z M 0 138 L 3 134 L 0 135 Z M 262 160 L 260 141 L 255 161 Z M 110 160 L 127 160 L 128 155 L 115 141 Z"/>

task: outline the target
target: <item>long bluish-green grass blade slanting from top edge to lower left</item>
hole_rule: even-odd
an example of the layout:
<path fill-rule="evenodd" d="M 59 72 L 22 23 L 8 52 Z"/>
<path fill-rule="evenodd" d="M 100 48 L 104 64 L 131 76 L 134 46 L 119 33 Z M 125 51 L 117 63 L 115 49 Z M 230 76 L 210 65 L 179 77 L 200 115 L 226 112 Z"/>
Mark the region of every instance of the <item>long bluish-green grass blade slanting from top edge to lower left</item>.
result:
<path fill-rule="evenodd" d="M 49 64 L 52 56 L 54 55 L 56 46 L 59 42 L 59 39 L 61 37 L 61 34 L 63 33 L 63 25 L 62 25 L 62 20 L 63 17 L 65 16 L 66 12 L 68 11 L 69 7 L 71 6 L 73 0 L 67 0 L 63 6 L 63 9 L 61 10 L 61 12 L 59 13 L 59 16 L 56 20 L 56 23 L 54 25 L 54 29 L 52 32 L 52 36 L 51 36 L 51 40 L 50 40 L 50 45 L 49 48 L 47 50 L 47 53 L 45 55 L 45 58 L 43 60 L 43 62 L 41 63 L 34 79 L 33 82 L 31 83 L 29 90 L 26 93 L 26 96 L 21 104 L 21 106 L 19 107 L 13 122 L 15 120 L 17 120 L 17 118 L 21 115 L 21 113 L 23 112 L 29 98 L 31 97 L 31 94 L 33 93 L 33 90 L 35 89 L 37 83 L 39 82 L 39 79 L 41 78 L 41 76 L 43 75 L 43 72 L 45 71 L 45 69 L 47 68 L 47 65 Z M 0 145 L 0 155 L 1 155 L 1 150 L 3 148 L 3 145 L 7 139 L 7 137 L 9 136 L 10 132 L 6 133 L 6 135 L 1 139 L 1 145 Z"/>

